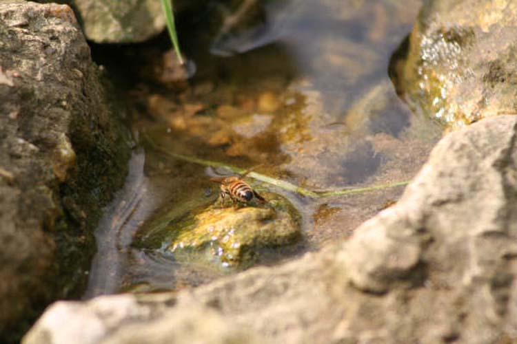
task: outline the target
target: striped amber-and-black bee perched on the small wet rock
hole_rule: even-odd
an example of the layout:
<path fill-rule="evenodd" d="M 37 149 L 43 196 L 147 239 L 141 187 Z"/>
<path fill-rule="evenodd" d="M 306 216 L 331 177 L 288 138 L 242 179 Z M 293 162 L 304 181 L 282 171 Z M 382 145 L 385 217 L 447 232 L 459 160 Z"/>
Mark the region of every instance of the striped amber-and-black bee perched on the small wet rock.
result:
<path fill-rule="evenodd" d="M 230 200 L 232 200 L 232 203 L 247 203 L 253 200 L 253 197 L 261 202 L 265 202 L 264 197 L 254 191 L 250 184 L 247 184 L 247 182 L 242 180 L 242 178 L 244 178 L 247 173 L 250 173 L 251 171 L 252 170 L 250 169 L 239 176 L 232 175 L 231 177 L 210 178 L 212 182 L 221 184 L 221 191 L 219 191 L 219 195 L 221 195 L 221 204 L 224 204 L 226 197 L 229 197 Z"/>

